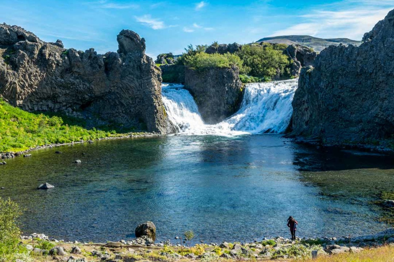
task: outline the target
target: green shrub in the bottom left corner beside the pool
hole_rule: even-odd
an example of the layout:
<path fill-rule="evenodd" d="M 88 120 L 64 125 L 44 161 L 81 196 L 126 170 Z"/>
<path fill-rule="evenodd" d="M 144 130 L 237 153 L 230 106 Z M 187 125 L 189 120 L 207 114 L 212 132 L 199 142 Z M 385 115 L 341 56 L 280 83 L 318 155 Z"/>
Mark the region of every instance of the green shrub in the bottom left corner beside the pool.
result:
<path fill-rule="evenodd" d="M 22 214 L 22 209 L 18 204 L 10 199 L 0 198 L 0 257 L 21 253 L 21 246 L 18 245 L 21 230 L 18 227 L 18 217 Z M 1 259 L 0 259 L 1 261 Z"/>

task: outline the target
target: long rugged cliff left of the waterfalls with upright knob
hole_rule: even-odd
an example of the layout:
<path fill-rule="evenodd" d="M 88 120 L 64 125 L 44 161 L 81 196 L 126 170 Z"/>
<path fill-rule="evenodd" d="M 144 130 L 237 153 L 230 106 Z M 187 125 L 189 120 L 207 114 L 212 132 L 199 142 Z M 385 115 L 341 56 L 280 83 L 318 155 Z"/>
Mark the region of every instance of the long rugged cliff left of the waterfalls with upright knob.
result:
<path fill-rule="evenodd" d="M 23 110 L 62 112 L 90 126 L 169 132 L 161 73 L 145 55 L 145 39 L 122 30 L 117 41 L 117 53 L 100 55 L 0 25 L 0 96 Z"/>

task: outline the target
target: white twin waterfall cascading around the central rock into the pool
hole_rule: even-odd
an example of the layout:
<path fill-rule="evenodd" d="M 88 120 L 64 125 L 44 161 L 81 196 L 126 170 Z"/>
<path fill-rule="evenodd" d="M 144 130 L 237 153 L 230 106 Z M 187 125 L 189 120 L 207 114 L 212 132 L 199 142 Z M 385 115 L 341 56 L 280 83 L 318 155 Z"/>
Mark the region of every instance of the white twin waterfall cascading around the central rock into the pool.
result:
<path fill-rule="evenodd" d="M 183 85 L 164 83 L 162 96 L 169 120 L 183 135 L 283 133 L 290 122 L 297 85 L 297 79 L 246 84 L 240 110 L 214 125 L 204 124 L 193 97 Z"/>

